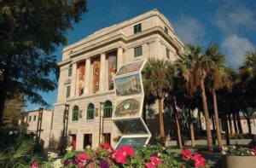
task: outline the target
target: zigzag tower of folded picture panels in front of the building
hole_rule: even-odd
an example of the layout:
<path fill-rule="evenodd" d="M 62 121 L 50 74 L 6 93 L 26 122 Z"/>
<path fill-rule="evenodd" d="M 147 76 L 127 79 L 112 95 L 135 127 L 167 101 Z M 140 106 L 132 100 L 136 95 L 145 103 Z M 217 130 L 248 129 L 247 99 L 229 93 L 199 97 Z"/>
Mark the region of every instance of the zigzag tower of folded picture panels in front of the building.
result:
<path fill-rule="evenodd" d="M 135 61 L 119 68 L 114 78 L 116 101 L 113 123 L 122 136 L 116 149 L 127 144 L 133 147 L 147 144 L 151 134 L 143 121 L 143 78 L 146 60 Z"/>

